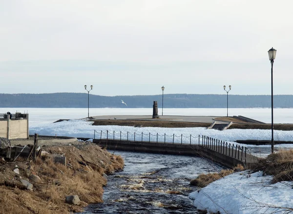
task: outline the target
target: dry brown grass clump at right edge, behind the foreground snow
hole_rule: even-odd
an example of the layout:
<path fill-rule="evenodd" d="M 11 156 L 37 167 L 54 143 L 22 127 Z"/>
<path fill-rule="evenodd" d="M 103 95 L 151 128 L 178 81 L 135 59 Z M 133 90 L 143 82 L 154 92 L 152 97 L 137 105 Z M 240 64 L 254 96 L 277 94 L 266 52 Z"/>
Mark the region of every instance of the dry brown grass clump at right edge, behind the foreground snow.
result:
<path fill-rule="evenodd" d="M 293 181 L 293 149 L 270 154 L 267 158 L 259 160 L 254 169 L 273 175 L 272 183 Z"/>

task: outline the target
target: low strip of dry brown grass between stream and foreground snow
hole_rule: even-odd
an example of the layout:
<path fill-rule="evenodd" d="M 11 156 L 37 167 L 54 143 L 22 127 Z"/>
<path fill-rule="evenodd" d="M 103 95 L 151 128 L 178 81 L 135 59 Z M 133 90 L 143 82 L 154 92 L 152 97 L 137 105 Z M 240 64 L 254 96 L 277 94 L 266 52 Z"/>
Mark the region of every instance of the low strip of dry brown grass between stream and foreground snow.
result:
<path fill-rule="evenodd" d="M 244 167 L 240 164 L 238 164 L 235 168 L 231 169 L 227 169 L 227 170 L 221 170 L 220 172 L 213 172 L 213 173 L 209 173 L 209 174 L 200 174 L 198 175 L 197 178 L 195 178 L 194 180 L 190 181 L 190 185 L 194 185 L 200 188 L 206 187 L 208 186 L 210 183 L 225 177 L 227 175 L 232 174 L 234 171 L 243 171 Z"/>

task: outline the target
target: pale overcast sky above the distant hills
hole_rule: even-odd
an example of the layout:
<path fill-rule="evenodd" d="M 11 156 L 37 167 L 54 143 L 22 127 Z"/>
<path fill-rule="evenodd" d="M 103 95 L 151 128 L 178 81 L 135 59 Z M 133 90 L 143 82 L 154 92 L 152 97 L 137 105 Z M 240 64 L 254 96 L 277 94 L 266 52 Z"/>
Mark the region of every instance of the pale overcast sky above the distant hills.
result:
<path fill-rule="evenodd" d="M 293 94 L 291 0 L 0 0 L 0 93 Z"/>

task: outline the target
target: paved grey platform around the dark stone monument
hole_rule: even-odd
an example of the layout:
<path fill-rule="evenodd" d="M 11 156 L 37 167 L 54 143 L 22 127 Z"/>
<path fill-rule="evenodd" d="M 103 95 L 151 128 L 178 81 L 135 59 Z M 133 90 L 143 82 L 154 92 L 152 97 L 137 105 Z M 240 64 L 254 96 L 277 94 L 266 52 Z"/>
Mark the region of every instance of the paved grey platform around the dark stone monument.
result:
<path fill-rule="evenodd" d="M 160 116 L 159 119 L 153 119 L 152 115 L 104 115 L 93 116 L 95 120 L 161 120 L 161 121 L 178 121 L 178 122 L 194 122 L 194 123 L 213 123 L 213 118 L 220 116 Z M 228 124 L 228 122 L 220 122 Z"/>

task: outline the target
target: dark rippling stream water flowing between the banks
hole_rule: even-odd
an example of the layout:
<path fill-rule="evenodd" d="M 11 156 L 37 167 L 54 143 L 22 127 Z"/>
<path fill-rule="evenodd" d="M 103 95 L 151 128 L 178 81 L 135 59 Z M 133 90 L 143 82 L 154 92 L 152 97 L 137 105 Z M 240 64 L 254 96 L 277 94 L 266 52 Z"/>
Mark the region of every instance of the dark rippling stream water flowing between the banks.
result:
<path fill-rule="evenodd" d="M 109 150 L 109 152 L 113 152 Z M 115 151 L 124 171 L 107 176 L 104 203 L 91 204 L 83 214 L 197 214 L 188 194 L 191 179 L 223 169 L 201 157 Z"/>

